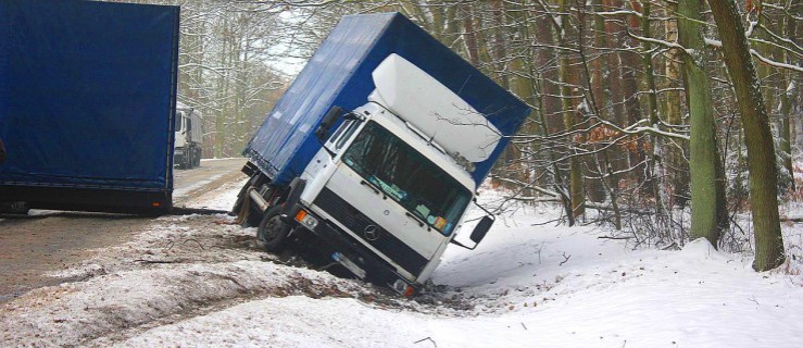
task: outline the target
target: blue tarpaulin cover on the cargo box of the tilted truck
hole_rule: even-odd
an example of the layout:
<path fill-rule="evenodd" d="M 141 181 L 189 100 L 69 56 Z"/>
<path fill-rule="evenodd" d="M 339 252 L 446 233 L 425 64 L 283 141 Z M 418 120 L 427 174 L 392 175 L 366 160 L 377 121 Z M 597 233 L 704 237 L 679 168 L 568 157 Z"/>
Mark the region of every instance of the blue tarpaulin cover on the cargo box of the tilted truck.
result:
<path fill-rule="evenodd" d="M 299 73 L 247 145 L 243 154 L 275 184 L 299 176 L 321 149 L 315 129 L 333 105 L 353 110 L 374 90 L 371 73 L 398 53 L 454 91 L 505 135 L 529 108 L 399 13 L 344 16 Z M 476 164 L 477 184 L 490 173 L 510 138 Z"/>

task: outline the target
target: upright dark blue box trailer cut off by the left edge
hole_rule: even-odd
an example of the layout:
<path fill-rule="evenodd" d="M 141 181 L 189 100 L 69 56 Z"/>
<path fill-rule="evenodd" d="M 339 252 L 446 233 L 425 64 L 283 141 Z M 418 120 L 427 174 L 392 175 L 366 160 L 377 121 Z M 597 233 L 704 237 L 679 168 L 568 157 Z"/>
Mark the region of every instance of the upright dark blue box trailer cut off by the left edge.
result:
<path fill-rule="evenodd" d="M 0 206 L 171 209 L 178 7 L 0 1 Z"/>

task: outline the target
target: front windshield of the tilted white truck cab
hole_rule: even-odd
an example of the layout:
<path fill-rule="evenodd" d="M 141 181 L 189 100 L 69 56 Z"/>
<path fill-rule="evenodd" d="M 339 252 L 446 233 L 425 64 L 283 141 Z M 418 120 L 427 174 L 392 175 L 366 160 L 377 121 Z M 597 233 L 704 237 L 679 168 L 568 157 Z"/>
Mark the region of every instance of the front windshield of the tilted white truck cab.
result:
<path fill-rule="evenodd" d="M 456 179 L 375 122 L 357 135 L 343 163 L 443 235 L 452 233 L 472 198 Z"/>

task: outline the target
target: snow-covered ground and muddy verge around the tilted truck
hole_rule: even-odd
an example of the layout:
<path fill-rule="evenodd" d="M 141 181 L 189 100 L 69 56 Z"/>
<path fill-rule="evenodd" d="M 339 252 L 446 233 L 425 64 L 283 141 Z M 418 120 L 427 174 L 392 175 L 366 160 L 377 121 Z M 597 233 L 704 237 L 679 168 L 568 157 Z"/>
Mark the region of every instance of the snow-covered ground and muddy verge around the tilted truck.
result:
<path fill-rule="evenodd" d="M 227 209 L 239 183 L 202 203 Z M 493 196 L 493 195 L 486 195 Z M 487 198 L 493 199 L 493 197 Z M 231 217 L 162 217 L 136 241 L 0 307 L 0 346 L 800 347 L 800 254 L 755 273 L 704 241 L 633 250 L 592 227 L 498 220 L 474 251 L 452 247 L 416 300 L 285 264 Z M 223 224 L 217 224 L 224 222 Z M 785 225 L 803 243 L 801 225 Z M 800 250 L 798 248 L 796 250 Z"/>

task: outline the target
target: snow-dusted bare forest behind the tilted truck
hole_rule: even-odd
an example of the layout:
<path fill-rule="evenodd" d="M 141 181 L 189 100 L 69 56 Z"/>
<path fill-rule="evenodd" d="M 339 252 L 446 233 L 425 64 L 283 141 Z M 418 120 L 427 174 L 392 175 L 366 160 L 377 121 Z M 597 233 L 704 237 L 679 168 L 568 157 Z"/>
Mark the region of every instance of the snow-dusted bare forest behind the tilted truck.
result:
<path fill-rule="evenodd" d="M 511 201 L 637 247 L 752 249 L 756 271 L 801 248 L 780 229 L 803 198 L 799 0 L 126 2 L 181 5 L 204 157 L 240 156 L 341 16 L 398 11 L 531 108 L 492 174 Z"/>

